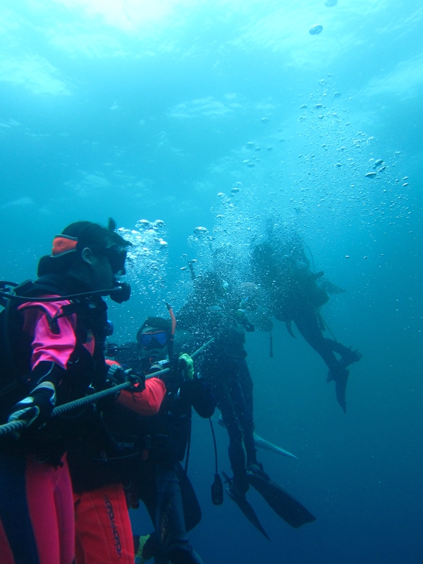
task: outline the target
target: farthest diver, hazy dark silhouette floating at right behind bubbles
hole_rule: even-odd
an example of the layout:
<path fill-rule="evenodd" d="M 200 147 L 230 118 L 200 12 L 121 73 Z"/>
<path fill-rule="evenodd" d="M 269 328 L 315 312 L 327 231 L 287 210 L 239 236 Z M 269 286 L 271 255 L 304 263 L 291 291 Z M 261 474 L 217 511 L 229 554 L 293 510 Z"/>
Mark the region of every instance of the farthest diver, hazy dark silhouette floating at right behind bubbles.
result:
<path fill-rule="evenodd" d="M 295 323 L 305 341 L 321 356 L 329 369 L 327 381 L 335 381 L 336 399 L 346 413 L 345 391 L 348 366 L 358 362 L 362 355 L 325 337 L 326 329 L 319 312 L 329 301 L 328 293 L 344 293 L 324 278 L 324 272 L 314 273 L 305 255 L 301 238 L 293 232 L 278 238 L 269 233 L 263 243 L 252 250 L 252 271 L 255 282 L 267 293 L 269 317 L 285 321 L 290 336 L 294 336 L 291 324 Z"/>

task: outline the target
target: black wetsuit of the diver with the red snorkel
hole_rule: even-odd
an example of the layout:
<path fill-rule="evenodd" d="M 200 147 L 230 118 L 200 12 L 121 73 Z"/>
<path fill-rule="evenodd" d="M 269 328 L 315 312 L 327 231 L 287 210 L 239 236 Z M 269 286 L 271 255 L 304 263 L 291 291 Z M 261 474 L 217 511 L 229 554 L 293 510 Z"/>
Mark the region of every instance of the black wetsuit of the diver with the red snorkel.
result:
<path fill-rule="evenodd" d="M 163 376 L 166 396 L 159 414 L 142 422 L 146 460 L 140 466 L 135 486 L 154 524 L 151 542 L 155 544 L 155 563 L 170 560 L 173 564 L 202 564 L 187 536 L 187 531 L 200 521 L 200 507 L 180 461 L 190 438 L 192 407 L 200 417 L 212 417 L 215 400 L 204 379 L 195 376 L 184 381 L 177 362 L 173 360 L 170 374 Z M 168 362 L 161 364 L 169 366 Z M 143 368 L 142 364 L 139 367 Z M 189 501 L 184 503 L 188 496 L 192 500 L 191 513 Z"/>

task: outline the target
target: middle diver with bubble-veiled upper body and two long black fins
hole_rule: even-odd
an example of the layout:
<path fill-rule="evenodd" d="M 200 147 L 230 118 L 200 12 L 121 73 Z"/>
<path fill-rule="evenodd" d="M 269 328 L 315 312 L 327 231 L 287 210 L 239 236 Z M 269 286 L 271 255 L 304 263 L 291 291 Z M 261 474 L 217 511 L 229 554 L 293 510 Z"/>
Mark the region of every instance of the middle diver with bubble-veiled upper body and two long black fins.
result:
<path fill-rule="evenodd" d="M 195 277 L 194 291 L 176 317 L 178 327 L 189 331 L 196 345 L 214 339 L 199 358 L 199 366 L 200 374 L 212 388 L 228 431 L 233 477 L 223 472 L 228 484 L 226 491 L 252 525 L 269 538 L 245 497 L 250 486 L 293 527 L 313 521 L 314 517 L 281 486 L 272 482 L 262 463 L 257 461 L 253 384 L 245 360 L 244 343 L 245 332 L 255 330 L 247 318 L 247 310 L 257 309 L 258 293 L 259 289 L 252 283 L 241 284 L 231 291 L 228 283 L 211 271 Z M 268 448 L 270 443 L 263 443 Z M 286 451 L 283 453 L 290 455 Z"/>

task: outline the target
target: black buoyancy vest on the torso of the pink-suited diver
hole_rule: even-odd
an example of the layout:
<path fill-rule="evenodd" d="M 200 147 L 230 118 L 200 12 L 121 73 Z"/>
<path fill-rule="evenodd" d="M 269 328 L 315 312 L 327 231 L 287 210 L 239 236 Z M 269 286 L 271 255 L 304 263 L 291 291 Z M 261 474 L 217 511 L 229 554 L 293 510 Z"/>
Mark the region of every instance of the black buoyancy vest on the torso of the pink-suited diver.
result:
<path fill-rule="evenodd" d="M 6 422 L 13 405 L 25 398 L 35 385 L 30 379 L 32 337 L 23 330 L 24 317 L 18 309 L 19 306 L 25 303 L 25 307 L 32 307 L 31 303 L 34 302 L 34 307 L 43 309 L 42 304 L 37 302 L 37 297 L 72 296 L 84 290 L 80 281 L 59 274 L 47 274 L 35 282 L 27 281 L 14 288 L 14 294 L 25 299 L 7 300 L 5 309 L 0 313 L 0 423 Z M 48 317 L 50 329 L 54 333 L 59 331 L 56 324 L 59 317 L 71 314 L 76 316 L 75 347 L 64 371 L 63 381 L 57 389 L 57 405 L 86 396 L 90 390 L 100 391 L 104 388 L 106 309 L 102 298 L 88 295 L 83 298 L 71 298 L 68 305 L 61 307 L 52 319 Z M 48 315 L 47 312 L 44 313 Z M 85 345 L 92 338 L 95 344 L 93 352 L 90 353 Z M 87 409 L 82 411 L 87 412 Z M 73 422 L 69 424 L 71 418 Z M 37 431 L 36 438 L 31 436 L 28 441 L 20 440 L 20 448 L 37 452 L 41 448 L 47 453 L 51 450 L 58 453 L 60 450 L 63 453 L 66 443 L 70 440 L 68 430 L 78 427 L 73 425 L 77 418 L 78 414 L 75 415 L 75 412 L 71 412 L 69 417 L 63 415 L 54 418 L 56 421 L 53 424 L 49 421 L 43 429 Z M 68 424 L 63 424 L 66 419 Z"/>

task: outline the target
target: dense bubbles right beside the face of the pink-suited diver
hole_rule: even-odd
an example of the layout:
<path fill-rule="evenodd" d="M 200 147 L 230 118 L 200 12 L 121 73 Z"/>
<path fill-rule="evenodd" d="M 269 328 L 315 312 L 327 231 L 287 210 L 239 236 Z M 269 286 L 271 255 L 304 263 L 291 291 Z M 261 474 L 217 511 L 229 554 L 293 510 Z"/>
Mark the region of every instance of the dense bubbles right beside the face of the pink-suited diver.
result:
<path fill-rule="evenodd" d="M 119 228 L 131 243 L 126 259 L 127 278 L 140 294 L 161 294 L 166 287 L 168 243 L 164 221 L 140 219 L 134 229 Z"/>

